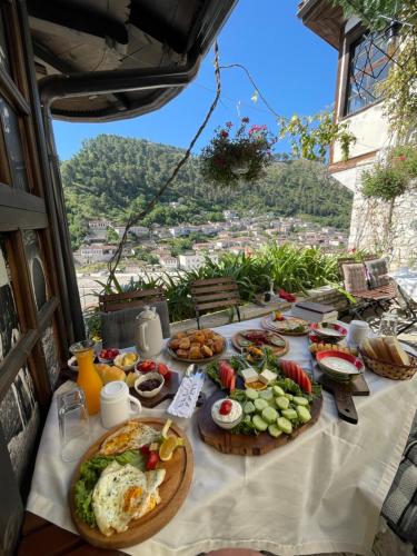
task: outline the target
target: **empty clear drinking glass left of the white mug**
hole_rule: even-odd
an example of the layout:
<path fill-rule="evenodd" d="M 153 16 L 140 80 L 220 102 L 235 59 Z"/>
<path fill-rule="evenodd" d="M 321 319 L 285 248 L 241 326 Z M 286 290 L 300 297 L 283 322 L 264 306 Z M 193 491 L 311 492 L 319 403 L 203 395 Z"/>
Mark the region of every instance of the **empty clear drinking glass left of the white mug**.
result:
<path fill-rule="evenodd" d="M 61 458 L 73 461 L 85 454 L 91 443 L 85 393 L 75 388 L 59 395 L 57 404 Z"/>

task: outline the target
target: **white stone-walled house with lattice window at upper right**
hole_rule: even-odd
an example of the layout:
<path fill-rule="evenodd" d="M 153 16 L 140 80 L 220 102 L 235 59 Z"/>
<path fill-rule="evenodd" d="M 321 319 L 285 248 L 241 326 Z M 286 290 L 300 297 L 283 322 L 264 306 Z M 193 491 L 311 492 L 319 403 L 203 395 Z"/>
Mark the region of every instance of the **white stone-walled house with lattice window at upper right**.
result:
<path fill-rule="evenodd" d="M 364 170 L 383 159 L 394 142 L 379 87 L 393 64 L 389 32 L 367 32 L 358 18 L 346 19 L 331 0 L 304 0 L 298 17 L 338 51 L 336 119 L 349 125 L 356 143 L 348 160 L 338 143 L 332 146 L 329 171 L 354 192 L 349 247 L 379 250 L 389 245 L 393 265 L 408 265 L 417 252 L 417 191 L 398 197 L 394 207 L 361 195 Z"/>

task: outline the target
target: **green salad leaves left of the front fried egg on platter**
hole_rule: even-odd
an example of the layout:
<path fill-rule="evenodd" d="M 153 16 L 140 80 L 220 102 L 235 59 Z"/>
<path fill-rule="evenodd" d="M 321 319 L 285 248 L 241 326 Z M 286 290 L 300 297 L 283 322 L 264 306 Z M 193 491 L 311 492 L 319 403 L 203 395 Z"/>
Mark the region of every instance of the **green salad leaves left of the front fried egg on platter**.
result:
<path fill-rule="evenodd" d="M 96 517 L 92 509 L 92 492 L 101 473 L 112 461 L 120 465 L 130 464 L 142 471 L 146 468 L 145 458 L 137 450 L 127 450 L 115 456 L 95 456 L 81 464 L 80 478 L 75 486 L 76 514 L 90 527 L 96 526 Z"/>

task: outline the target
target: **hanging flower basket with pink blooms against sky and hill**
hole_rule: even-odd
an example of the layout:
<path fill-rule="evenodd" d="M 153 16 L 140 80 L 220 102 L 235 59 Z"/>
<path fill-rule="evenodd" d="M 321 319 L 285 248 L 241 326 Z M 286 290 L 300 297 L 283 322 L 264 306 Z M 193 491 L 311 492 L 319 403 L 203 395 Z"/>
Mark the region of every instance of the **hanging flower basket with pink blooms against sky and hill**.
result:
<path fill-rule="evenodd" d="M 217 128 L 215 137 L 201 152 L 201 173 L 219 186 L 237 185 L 242 178 L 256 181 L 274 160 L 271 148 L 276 138 L 266 126 L 251 126 L 242 118 L 235 137 L 232 123 Z"/>

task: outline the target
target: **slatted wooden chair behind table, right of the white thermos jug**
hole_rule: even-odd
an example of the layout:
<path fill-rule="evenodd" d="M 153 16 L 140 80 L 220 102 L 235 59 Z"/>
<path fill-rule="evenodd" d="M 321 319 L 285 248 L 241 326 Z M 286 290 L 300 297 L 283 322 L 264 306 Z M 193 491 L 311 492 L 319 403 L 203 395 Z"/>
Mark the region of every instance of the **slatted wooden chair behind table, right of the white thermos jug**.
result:
<path fill-rule="evenodd" d="M 195 306 L 198 328 L 200 328 L 201 311 L 225 307 L 235 307 L 240 322 L 239 289 L 232 278 L 219 277 L 207 280 L 195 280 L 191 284 L 191 299 Z"/>

